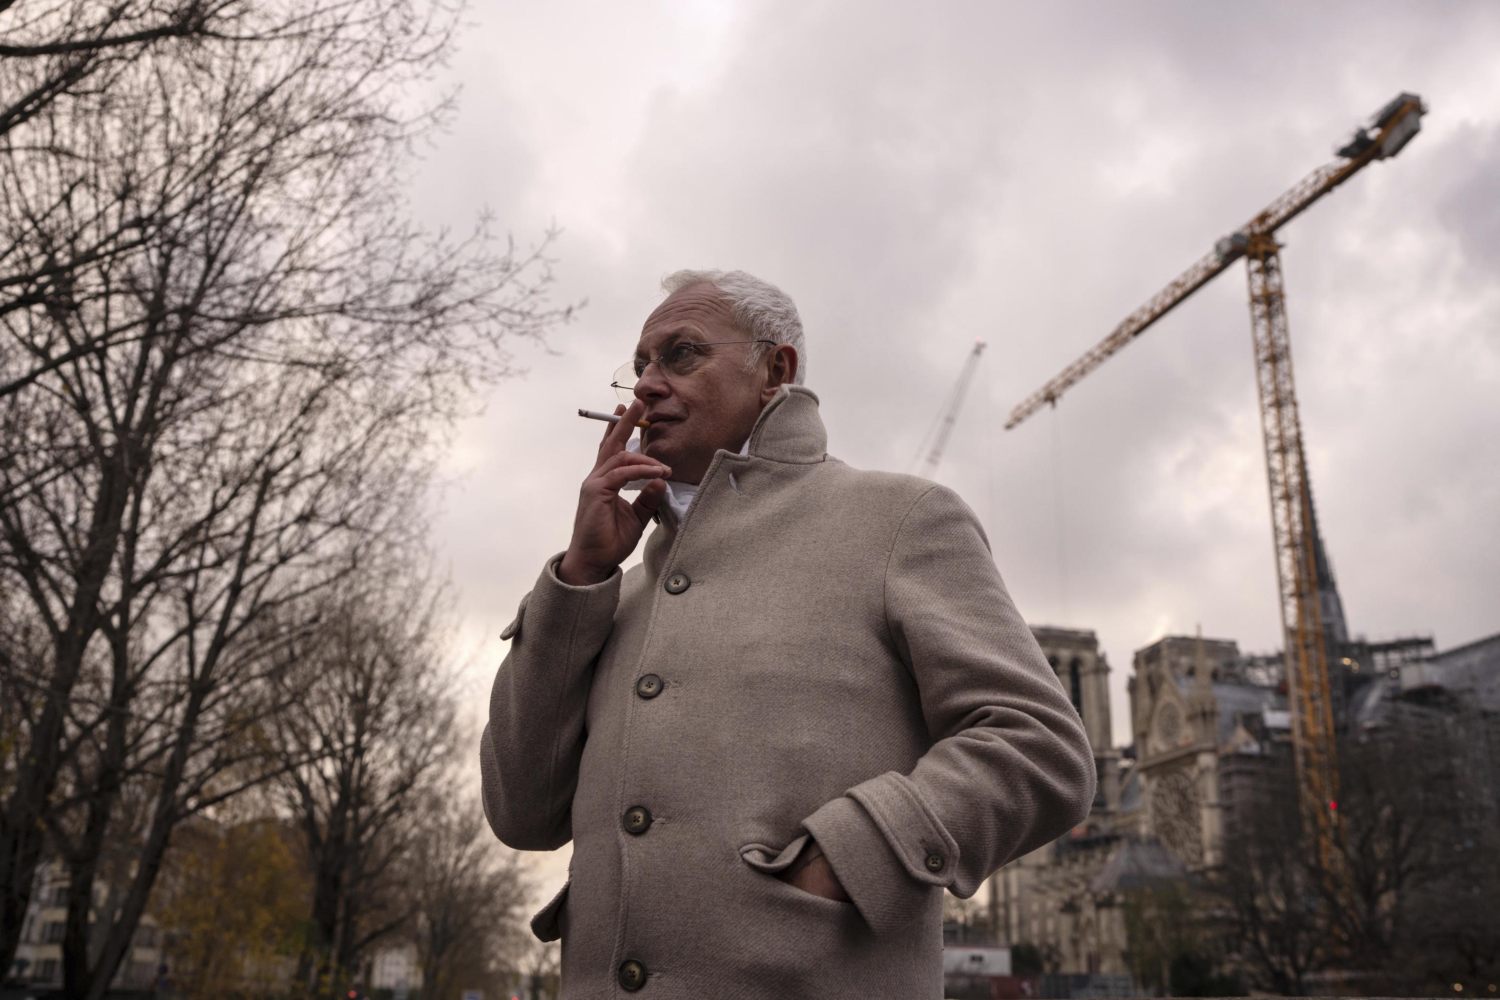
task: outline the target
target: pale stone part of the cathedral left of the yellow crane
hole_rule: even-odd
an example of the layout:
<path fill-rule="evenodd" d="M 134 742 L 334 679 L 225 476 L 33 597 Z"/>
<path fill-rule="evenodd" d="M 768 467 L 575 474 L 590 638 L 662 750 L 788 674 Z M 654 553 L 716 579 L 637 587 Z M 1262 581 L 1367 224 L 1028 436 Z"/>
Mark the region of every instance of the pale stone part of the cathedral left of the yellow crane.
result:
<path fill-rule="evenodd" d="M 1068 835 L 998 871 L 990 927 L 1050 972 L 1125 975 L 1124 894 L 1216 865 L 1226 822 L 1290 739 L 1280 663 L 1221 639 L 1168 636 L 1136 654 L 1126 750 L 1110 733 L 1110 666 L 1092 631 L 1032 627 L 1083 718 L 1098 795 Z"/>

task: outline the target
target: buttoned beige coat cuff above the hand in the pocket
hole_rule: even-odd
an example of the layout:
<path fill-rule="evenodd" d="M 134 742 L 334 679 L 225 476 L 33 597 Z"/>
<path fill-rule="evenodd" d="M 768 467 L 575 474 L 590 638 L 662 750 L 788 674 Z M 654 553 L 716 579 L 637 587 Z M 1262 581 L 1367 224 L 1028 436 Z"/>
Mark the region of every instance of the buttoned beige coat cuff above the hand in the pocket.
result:
<path fill-rule="evenodd" d="M 878 936 L 906 927 L 933 886 L 908 874 L 864 807 L 840 796 L 802 822 L 860 916 Z"/>

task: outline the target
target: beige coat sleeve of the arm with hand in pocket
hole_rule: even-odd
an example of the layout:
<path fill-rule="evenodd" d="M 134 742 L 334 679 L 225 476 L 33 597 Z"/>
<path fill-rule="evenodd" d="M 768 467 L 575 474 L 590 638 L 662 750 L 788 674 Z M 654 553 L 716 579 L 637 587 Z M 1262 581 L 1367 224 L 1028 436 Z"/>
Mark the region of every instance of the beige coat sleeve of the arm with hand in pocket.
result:
<path fill-rule="evenodd" d="M 932 747 L 910 774 L 870 778 L 804 822 L 876 933 L 933 886 L 970 897 L 1083 822 L 1096 781 L 1083 723 L 951 490 L 922 493 L 898 529 L 885 612 Z"/>

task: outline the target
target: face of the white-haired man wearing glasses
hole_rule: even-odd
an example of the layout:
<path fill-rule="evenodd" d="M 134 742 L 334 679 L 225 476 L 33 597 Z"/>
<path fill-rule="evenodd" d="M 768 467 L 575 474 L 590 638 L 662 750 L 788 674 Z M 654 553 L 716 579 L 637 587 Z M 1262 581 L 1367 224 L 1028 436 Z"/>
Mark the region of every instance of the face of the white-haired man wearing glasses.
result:
<path fill-rule="evenodd" d="M 646 364 L 636 382 L 636 399 L 651 426 L 640 432 L 640 450 L 672 468 L 672 478 L 698 483 L 708 472 L 714 451 L 736 451 L 760 415 L 760 382 L 746 370 L 752 345 L 720 343 L 748 340 L 729 316 L 729 306 L 712 285 L 690 285 L 666 297 L 646 318 L 636 343 L 636 361 L 670 355 L 682 342 L 693 349 L 687 375 Z"/>

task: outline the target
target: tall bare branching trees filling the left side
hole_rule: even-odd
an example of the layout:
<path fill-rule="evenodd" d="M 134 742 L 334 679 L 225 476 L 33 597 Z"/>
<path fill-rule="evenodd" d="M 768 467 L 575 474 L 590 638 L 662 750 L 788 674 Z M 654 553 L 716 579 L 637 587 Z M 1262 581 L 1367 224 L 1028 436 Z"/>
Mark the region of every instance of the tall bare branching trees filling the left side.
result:
<path fill-rule="evenodd" d="M 422 510 L 507 342 L 567 310 L 546 238 L 408 220 L 458 18 L 0 0 L 0 970 L 54 858 L 78 1000 L 148 909 L 196 919 L 195 871 L 237 877 L 214 852 L 297 856 L 315 988 L 394 928 L 442 982 L 468 904 L 414 882 L 423 846 L 513 888 L 448 799 Z"/>

